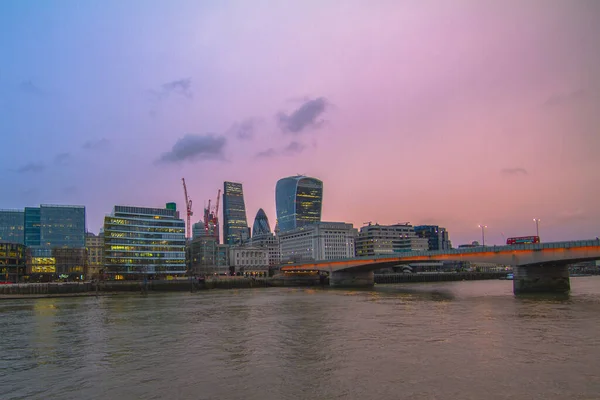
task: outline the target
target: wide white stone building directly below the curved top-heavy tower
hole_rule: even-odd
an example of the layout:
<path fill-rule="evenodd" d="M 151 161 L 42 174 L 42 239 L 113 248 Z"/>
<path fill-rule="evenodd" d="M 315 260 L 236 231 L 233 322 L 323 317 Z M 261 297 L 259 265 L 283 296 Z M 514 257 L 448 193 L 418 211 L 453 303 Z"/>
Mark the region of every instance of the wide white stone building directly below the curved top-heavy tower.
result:
<path fill-rule="evenodd" d="M 316 222 L 280 232 L 281 262 L 352 258 L 356 235 L 353 225 L 344 222 Z"/>

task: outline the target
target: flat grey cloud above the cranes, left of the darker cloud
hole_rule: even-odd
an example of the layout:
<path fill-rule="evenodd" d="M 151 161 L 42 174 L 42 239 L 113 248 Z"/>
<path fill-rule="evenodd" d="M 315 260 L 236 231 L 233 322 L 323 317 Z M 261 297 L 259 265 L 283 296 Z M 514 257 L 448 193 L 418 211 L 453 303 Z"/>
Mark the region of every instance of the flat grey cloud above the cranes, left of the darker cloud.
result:
<path fill-rule="evenodd" d="M 159 162 L 223 160 L 224 136 L 187 134 L 173 145 L 171 151 L 160 156 Z"/>

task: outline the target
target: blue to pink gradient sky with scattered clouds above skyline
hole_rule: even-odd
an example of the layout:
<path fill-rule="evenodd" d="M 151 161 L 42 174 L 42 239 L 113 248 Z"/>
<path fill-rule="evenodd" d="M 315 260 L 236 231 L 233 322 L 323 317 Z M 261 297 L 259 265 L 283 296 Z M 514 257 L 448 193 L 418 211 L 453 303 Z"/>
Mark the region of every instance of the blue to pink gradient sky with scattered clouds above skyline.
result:
<path fill-rule="evenodd" d="M 0 208 L 185 207 L 600 236 L 596 0 L 3 0 Z"/>

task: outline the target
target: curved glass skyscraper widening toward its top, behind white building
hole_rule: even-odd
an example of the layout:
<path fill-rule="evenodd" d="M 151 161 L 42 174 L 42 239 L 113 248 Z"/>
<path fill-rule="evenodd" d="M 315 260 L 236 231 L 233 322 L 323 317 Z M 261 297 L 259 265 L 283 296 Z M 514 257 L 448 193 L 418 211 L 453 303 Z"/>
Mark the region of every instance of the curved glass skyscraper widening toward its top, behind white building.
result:
<path fill-rule="evenodd" d="M 280 232 L 321 221 L 323 182 L 306 176 L 290 176 L 277 181 L 275 205 Z"/>

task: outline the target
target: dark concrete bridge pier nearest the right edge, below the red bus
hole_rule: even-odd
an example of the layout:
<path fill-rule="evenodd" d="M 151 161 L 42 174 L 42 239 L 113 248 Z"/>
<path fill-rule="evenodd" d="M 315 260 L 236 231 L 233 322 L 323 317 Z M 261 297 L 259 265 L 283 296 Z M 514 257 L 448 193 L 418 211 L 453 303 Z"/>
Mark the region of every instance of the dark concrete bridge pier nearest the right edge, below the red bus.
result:
<path fill-rule="evenodd" d="M 513 292 L 567 293 L 571 289 L 567 265 L 530 265 L 513 267 Z"/>

